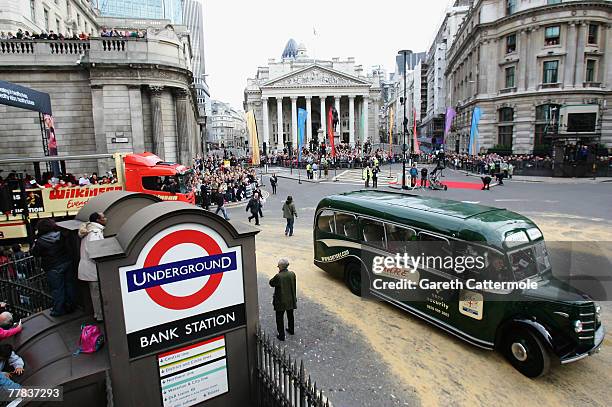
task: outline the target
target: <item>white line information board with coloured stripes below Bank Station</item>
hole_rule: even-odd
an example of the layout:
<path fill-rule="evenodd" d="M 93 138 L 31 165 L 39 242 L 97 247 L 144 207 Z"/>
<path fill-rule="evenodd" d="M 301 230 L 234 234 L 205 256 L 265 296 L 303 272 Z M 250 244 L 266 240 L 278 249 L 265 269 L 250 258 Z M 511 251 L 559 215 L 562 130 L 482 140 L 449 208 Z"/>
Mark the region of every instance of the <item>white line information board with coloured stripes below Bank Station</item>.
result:
<path fill-rule="evenodd" d="M 225 336 L 157 355 L 164 407 L 188 407 L 229 391 Z"/>

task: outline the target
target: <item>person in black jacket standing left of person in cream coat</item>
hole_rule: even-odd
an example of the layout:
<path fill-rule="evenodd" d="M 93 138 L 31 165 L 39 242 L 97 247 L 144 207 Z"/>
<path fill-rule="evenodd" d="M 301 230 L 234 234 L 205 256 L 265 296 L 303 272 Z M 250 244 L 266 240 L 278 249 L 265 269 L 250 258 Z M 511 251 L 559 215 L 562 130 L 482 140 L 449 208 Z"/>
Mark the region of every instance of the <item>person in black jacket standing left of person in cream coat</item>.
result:
<path fill-rule="evenodd" d="M 57 230 L 53 219 L 45 218 L 36 225 L 38 238 L 32 246 L 32 254 L 42 259 L 47 273 L 53 308 L 51 316 L 57 317 L 74 311 L 75 289 L 72 259 L 66 240 Z"/>

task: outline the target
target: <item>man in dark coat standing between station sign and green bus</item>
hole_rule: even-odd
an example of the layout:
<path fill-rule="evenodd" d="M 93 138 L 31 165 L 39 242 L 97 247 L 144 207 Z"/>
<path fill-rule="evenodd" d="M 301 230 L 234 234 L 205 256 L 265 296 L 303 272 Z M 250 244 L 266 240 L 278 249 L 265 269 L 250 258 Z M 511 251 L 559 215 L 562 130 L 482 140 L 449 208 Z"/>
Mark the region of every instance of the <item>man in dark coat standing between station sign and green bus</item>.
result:
<path fill-rule="evenodd" d="M 270 280 L 270 286 L 274 287 L 272 305 L 276 311 L 277 338 L 285 340 L 285 312 L 287 313 L 287 332 L 295 334 L 293 310 L 297 308 L 297 290 L 295 273 L 289 271 L 289 261 L 280 259 L 278 261 L 278 274 Z"/>

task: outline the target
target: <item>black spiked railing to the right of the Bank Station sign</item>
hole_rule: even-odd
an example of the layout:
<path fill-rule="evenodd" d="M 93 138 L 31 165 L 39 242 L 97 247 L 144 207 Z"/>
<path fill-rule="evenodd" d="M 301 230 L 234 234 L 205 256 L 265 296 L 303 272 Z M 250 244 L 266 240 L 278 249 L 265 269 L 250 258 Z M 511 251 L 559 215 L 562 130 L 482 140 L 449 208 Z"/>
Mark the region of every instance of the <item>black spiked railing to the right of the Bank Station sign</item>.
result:
<path fill-rule="evenodd" d="M 257 332 L 257 380 L 259 407 L 330 407 L 304 363 L 299 367 L 261 329 Z"/>

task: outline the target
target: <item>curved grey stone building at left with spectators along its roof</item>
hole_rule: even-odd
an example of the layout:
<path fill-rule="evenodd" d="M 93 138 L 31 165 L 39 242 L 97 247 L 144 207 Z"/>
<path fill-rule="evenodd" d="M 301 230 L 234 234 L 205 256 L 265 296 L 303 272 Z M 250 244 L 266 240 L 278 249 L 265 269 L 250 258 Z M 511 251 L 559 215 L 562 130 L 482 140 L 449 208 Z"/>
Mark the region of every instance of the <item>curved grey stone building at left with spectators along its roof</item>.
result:
<path fill-rule="evenodd" d="M 6 43 L 0 76 L 50 94 L 59 155 L 152 151 L 190 165 L 201 153 L 190 56 L 172 27 L 146 40 L 28 41 L 28 53 Z M 43 155 L 38 113 L 0 105 L 0 123 L 0 158 Z M 81 173 L 111 163 L 69 165 Z"/>

